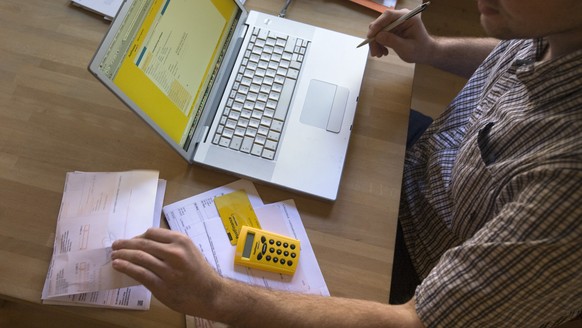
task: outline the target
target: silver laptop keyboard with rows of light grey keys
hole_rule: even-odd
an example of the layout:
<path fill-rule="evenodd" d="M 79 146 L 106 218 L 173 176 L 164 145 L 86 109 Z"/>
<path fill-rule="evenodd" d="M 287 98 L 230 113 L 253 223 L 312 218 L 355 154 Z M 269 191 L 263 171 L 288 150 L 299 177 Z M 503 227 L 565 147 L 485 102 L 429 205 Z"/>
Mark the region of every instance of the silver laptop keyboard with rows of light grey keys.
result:
<path fill-rule="evenodd" d="M 273 159 L 309 42 L 254 28 L 212 143 Z"/>

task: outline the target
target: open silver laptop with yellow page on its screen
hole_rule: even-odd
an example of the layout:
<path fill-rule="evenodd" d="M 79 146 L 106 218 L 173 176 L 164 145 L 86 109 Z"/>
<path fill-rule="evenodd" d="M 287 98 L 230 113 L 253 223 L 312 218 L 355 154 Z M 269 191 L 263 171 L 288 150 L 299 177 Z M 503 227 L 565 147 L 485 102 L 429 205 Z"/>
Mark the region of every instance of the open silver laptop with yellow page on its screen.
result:
<path fill-rule="evenodd" d="M 189 163 L 333 201 L 360 41 L 236 0 L 126 0 L 89 71 Z"/>

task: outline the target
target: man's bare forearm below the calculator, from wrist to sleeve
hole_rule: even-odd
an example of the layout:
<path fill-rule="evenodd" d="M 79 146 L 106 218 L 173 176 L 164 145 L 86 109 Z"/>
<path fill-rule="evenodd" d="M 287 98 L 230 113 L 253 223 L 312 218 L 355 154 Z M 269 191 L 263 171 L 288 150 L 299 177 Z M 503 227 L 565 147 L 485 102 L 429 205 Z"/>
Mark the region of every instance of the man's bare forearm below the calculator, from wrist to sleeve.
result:
<path fill-rule="evenodd" d="M 371 301 L 270 291 L 227 281 L 211 317 L 239 327 L 423 327 L 414 302 Z M 252 315 L 250 315 L 253 313 Z"/>

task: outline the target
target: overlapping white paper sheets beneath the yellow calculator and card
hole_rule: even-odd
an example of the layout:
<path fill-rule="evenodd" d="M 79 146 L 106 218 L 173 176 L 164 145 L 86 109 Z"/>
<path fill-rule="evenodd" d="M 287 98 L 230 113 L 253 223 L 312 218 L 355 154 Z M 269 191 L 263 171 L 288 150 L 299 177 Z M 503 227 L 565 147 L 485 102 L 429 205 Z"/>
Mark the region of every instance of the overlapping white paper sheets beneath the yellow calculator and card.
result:
<path fill-rule="evenodd" d="M 231 245 L 228 239 L 214 197 L 240 189 L 248 194 L 264 230 L 293 237 L 301 242 L 301 256 L 293 276 L 235 266 L 236 246 Z M 264 205 L 254 185 L 239 180 L 164 206 L 163 212 L 170 228 L 188 235 L 221 276 L 269 289 L 329 296 L 307 232 L 292 200 Z M 196 327 L 213 327 L 214 324 L 200 318 L 189 320 L 195 322 Z"/>

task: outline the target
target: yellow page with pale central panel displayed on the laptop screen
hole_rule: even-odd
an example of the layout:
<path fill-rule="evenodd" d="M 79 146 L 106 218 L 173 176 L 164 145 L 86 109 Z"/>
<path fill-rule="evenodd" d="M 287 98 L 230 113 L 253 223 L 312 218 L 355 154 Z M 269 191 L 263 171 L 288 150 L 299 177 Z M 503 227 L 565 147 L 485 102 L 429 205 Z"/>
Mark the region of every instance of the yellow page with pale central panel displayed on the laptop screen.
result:
<path fill-rule="evenodd" d="M 115 84 L 180 145 L 235 12 L 220 1 L 155 0 L 115 76 Z"/>

